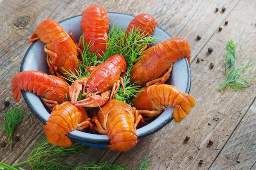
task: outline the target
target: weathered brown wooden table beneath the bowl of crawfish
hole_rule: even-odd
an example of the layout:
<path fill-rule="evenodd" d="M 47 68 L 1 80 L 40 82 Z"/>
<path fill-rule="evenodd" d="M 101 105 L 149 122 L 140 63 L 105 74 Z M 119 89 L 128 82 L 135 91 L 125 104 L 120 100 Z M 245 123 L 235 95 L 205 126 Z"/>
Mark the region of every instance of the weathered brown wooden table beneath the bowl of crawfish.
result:
<path fill-rule="evenodd" d="M 139 141 L 127 152 L 87 147 L 87 155 L 73 156 L 70 163 L 107 159 L 108 163 L 128 163 L 137 168 L 144 157 L 151 160 L 150 170 L 253 170 L 256 169 L 256 81 L 252 86 L 234 91 L 219 91 L 224 82 L 226 44 L 229 40 L 243 42 L 243 52 L 237 66 L 256 61 L 256 1 L 255 0 L 3 0 L 0 1 L 0 120 L 12 105 L 29 111 L 24 99 L 16 103 L 11 93 L 11 79 L 19 72 L 22 58 L 28 49 L 31 33 L 44 19 L 61 21 L 79 15 L 86 7 L 99 4 L 110 12 L 153 15 L 159 25 L 173 37 L 187 40 L 191 46 L 192 84 L 190 94 L 195 107 L 180 123 L 167 126 Z M 222 11 L 222 7 L 226 11 Z M 216 8 L 219 11 L 216 11 Z M 228 21 L 228 24 L 225 24 Z M 218 28 L 222 27 L 222 31 Z M 197 36 L 201 40 L 197 40 Z M 208 48 L 213 48 L 208 53 Z M 198 60 L 199 59 L 199 62 Z M 214 67 L 210 68 L 210 63 Z M 256 78 L 255 64 L 242 71 L 241 77 Z M 4 101 L 10 106 L 4 106 Z M 218 119 L 214 119 L 218 118 Z M 9 139 L 0 132 L 0 161 L 10 165 L 27 159 L 36 141 L 43 139 L 43 124 L 30 113 L 14 135 L 9 151 Z M 186 136 L 191 137 L 184 142 Z M 214 143 L 209 145 L 209 140 Z M 200 163 L 201 161 L 201 163 Z M 29 169 L 29 165 L 22 166 Z"/>

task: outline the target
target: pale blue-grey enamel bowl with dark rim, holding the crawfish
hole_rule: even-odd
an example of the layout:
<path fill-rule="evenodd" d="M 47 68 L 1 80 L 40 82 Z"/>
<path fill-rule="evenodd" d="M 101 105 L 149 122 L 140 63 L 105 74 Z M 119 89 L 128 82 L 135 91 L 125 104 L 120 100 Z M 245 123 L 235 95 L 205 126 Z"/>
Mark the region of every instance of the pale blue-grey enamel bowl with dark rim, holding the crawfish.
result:
<path fill-rule="evenodd" d="M 108 15 L 110 19 L 110 28 L 113 26 L 113 24 L 115 27 L 127 27 L 130 21 L 134 18 L 134 16 L 132 15 L 123 13 L 109 12 Z M 79 40 L 80 35 L 82 35 L 83 33 L 80 27 L 81 18 L 82 15 L 77 15 L 59 22 L 67 33 L 69 33 L 70 29 L 72 30 L 72 34 L 74 35 L 76 41 Z M 157 36 L 156 43 L 162 42 L 168 38 L 172 38 L 170 34 L 168 34 L 159 26 L 155 28 L 153 36 Z M 151 44 L 151 46 L 155 44 Z M 49 67 L 46 63 L 46 53 L 44 51 L 44 45 L 45 44 L 42 43 L 40 40 L 37 40 L 29 46 L 29 49 L 25 53 L 25 56 L 22 60 L 20 72 L 25 70 L 37 70 L 49 74 Z M 178 60 L 173 64 L 171 76 L 167 80 L 166 84 L 171 84 L 179 88 L 180 91 L 184 93 L 189 93 L 191 84 L 191 72 L 189 63 L 186 58 Z M 31 112 L 34 113 L 34 115 L 38 119 L 40 119 L 40 121 L 46 124 L 46 121 L 49 118 L 49 110 L 45 108 L 40 98 L 29 92 L 22 92 L 22 95 Z M 150 124 L 137 129 L 138 139 L 142 139 L 150 134 L 157 132 L 172 120 L 173 107 L 167 107 L 166 110 Z M 78 141 L 79 143 L 94 147 L 105 148 L 106 145 L 110 144 L 107 135 L 97 135 L 74 130 L 67 136 L 74 139 L 75 141 Z"/>

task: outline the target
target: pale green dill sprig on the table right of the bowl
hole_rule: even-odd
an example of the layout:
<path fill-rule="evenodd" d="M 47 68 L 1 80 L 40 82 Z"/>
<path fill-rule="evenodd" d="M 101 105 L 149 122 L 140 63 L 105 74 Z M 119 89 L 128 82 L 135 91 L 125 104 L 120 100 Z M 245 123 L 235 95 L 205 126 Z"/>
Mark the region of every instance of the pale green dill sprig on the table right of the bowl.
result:
<path fill-rule="evenodd" d="M 242 44 L 239 44 L 239 51 L 238 51 L 237 55 L 236 55 L 236 45 L 234 44 L 234 42 L 232 40 L 230 40 L 226 46 L 227 54 L 226 54 L 225 70 L 227 72 L 227 77 L 226 77 L 224 83 L 220 84 L 220 87 L 219 87 L 220 91 L 227 88 L 227 86 L 230 86 L 235 91 L 242 90 L 245 87 L 251 86 L 251 84 L 249 84 L 247 81 L 248 79 L 256 80 L 251 77 L 239 78 L 239 76 L 241 74 L 241 70 L 243 70 L 245 68 L 249 68 L 250 66 L 253 65 L 253 63 L 251 63 L 251 59 L 250 59 L 250 61 L 247 64 L 245 64 L 239 68 L 236 68 L 236 60 L 237 60 L 239 54 L 243 51 Z"/>

